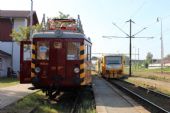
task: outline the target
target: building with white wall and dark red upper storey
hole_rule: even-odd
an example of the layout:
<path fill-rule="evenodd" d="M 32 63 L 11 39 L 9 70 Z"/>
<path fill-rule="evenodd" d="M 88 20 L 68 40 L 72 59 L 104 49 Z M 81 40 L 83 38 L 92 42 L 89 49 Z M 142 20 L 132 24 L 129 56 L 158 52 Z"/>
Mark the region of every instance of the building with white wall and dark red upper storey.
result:
<path fill-rule="evenodd" d="M 16 31 L 19 27 L 29 26 L 30 11 L 0 10 L 0 50 L 11 57 L 3 59 L 3 68 L 11 67 L 13 71 L 20 71 L 20 43 L 10 37 L 12 29 Z M 33 12 L 33 25 L 38 23 L 36 12 Z M 11 59 L 10 59 L 11 58 Z M 9 63 L 10 62 L 10 63 Z M 7 73 L 7 69 L 0 72 L 0 76 Z"/>

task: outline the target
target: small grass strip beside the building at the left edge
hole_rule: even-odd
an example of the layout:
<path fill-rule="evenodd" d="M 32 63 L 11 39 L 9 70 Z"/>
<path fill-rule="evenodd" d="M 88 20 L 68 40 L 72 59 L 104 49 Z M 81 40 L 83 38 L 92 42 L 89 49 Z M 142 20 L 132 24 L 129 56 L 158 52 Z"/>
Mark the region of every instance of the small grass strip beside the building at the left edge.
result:
<path fill-rule="evenodd" d="M 6 78 L 6 77 L 0 78 L 0 88 L 16 85 L 18 83 L 19 80 L 17 78 Z"/>

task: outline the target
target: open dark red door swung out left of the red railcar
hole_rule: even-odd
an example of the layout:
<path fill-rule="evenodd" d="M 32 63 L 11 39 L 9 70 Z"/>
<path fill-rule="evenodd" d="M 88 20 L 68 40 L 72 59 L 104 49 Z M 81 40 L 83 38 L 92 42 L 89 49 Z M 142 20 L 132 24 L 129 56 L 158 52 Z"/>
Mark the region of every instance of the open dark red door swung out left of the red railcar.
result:
<path fill-rule="evenodd" d="M 31 42 L 20 45 L 20 83 L 31 83 Z"/>

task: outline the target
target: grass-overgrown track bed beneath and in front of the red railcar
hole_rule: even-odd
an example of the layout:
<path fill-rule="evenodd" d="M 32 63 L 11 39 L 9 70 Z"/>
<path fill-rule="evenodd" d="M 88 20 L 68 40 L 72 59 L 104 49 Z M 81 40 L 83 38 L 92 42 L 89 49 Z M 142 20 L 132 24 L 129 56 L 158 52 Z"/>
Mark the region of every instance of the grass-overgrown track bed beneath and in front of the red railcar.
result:
<path fill-rule="evenodd" d="M 91 88 L 61 92 L 53 100 L 39 91 L 0 109 L 0 113 L 88 113 L 89 111 L 95 111 Z"/>

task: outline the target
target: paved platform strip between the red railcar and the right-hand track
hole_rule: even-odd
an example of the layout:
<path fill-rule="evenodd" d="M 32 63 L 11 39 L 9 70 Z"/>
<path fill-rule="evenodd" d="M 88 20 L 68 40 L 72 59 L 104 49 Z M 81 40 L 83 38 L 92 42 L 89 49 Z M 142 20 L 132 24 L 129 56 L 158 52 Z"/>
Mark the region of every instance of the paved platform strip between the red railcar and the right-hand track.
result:
<path fill-rule="evenodd" d="M 97 113 L 149 113 L 103 78 L 93 76 L 92 82 Z"/>

